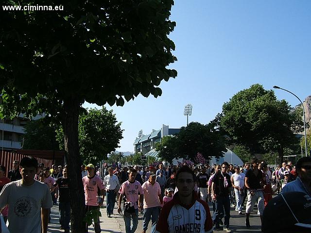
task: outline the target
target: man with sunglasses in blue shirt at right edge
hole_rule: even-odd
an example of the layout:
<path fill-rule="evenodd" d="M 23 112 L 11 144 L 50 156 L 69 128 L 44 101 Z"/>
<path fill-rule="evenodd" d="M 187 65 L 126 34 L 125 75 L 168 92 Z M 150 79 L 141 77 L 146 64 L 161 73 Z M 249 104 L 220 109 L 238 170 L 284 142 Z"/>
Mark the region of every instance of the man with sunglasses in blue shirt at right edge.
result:
<path fill-rule="evenodd" d="M 311 157 L 302 157 L 296 164 L 297 178 L 287 183 L 281 193 L 304 192 L 311 195 Z"/>

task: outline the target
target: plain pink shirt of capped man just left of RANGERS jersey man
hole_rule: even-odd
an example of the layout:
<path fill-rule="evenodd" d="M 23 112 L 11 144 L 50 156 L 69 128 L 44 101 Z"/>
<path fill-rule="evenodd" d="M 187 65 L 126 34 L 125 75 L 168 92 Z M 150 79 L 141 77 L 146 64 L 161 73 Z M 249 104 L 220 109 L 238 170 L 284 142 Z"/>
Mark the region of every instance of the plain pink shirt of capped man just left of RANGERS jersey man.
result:
<path fill-rule="evenodd" d="M 160 200 L 158 195 L 161 195 L 160 184 L 155 182 L 154 185 L 149 181 L 142 184 L 142 190 L 144 191 L 144 209 L 160 206 Z"/>

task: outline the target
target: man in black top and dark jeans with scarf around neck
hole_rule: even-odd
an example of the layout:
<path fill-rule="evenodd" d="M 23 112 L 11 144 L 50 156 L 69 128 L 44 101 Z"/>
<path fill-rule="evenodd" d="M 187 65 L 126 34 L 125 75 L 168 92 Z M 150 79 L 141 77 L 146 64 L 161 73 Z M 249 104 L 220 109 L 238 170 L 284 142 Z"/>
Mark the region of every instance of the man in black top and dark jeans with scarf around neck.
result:
<path fill-rule="evenodd" d="M 229 220 L 230 220 L 230 198 L 229 192 L 232 183 L 230 175 L 226 173 L 228 163 L 222 164 L 221 171 L 218 171 L 212 180 L 212 200 L 215 201 L 215 213 L 213 216 L 214 230 L 220 230 L 220 220 L 225 216 L 224 232 L 230 233 Z M 225 211 L 225 213 L 224 213 Z"/>

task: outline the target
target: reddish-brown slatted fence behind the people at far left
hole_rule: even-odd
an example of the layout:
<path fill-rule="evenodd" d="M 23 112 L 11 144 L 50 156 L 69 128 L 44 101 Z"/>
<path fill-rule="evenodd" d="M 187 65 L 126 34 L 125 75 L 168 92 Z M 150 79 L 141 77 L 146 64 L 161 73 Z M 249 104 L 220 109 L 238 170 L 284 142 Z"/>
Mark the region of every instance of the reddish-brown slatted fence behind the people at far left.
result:
<path fill-rule="evenodd" d="M 2 151 L 1 158 L 0 158 L 0 165 L 5 166 L 6 168 L 6 175 L 8 174 L 9 170 L 13 168 L 12 164 L 14 160 L 20 161 L 22 158 L 26 157 L 27 155 L 24 154 L 18 154 L 15 152 L 8 152 L 8 151 Z M 35 156 L 34 156 L 35 157 Z M 43 163 L 44 166 L 51 167 L 53 160 L 52 159 L 43 159 L 43 158 L 37 158 L 38 163 Z"/>

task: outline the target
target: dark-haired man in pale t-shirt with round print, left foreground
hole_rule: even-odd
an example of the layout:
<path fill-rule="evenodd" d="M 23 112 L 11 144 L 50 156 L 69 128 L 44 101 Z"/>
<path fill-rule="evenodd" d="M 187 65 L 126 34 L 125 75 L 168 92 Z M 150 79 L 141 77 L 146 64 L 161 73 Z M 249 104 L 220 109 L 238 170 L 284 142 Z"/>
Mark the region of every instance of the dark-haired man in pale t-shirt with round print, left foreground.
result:
<path fill-rule="evenodd" d="M 19 168 L 22 179 L 5 184 L 0 193 L 0 210 L 9 206 L 10 233 L 47 233 L 53 203 L 48 186 L 34 179 L 37 167 L 35 158 L 22 158 Z"/>

